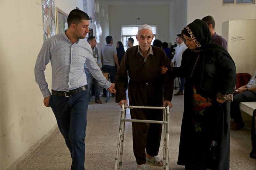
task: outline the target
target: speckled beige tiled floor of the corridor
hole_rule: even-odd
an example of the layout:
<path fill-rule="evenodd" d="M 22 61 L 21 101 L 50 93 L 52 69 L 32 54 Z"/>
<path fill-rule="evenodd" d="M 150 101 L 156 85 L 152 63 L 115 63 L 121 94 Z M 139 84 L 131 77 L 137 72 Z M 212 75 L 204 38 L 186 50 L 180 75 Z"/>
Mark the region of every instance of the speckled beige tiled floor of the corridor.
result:
<path fill-rule="evenodd" d="M 174 91 L 174 93 L 177 91 Z M 112 170 L 115 166 L 116 144 L 120 121 L 120 107 L 111 98 L 108 103 L 101 98 L 103 104 L 94 103 L 91 99 L 87 116 L 85 138 L 85 169 L 86 170 Z M 173 96 L 171 109 L 170 132 L 170 168 L 184 170 L 177 165 L 180 125 L 183 113 L 183 96 Z M 128 111 L 128 110 L 127 110 Z M 127 117 L 129 117 L 127 112 Z M 252 150 L 250 139 L 250 121 L 245 128 L 231 131 L 230 170 L 255 170 L 256 159 L 249 157 Z M 163 140 L 162 140 L 163 144 Z M 163 155 L 161 144 L 159 157 Z M 52 137 L 45 146 L 26 164 L 23 170 L 70 170 L 71 157 L 60 132 Z M 148 170 L 162 169 L 146 164 Z M 136 161 L 132 151 L 132 126 L 126 123 L 124 135 L 123 170 L 136 169 Z"/>

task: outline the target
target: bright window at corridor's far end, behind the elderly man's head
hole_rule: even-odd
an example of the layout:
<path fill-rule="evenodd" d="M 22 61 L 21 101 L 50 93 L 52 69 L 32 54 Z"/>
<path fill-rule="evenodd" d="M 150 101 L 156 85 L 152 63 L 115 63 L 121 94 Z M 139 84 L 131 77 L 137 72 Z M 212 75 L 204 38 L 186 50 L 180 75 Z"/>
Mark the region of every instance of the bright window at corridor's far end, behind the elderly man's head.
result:
<path fill-rule="evenodd" d="M 156 25 L 150 25 L 152 27 L 152 32 L 154 35 L 154 38 L 151 42 L 151 45 L 153 45 L 153 41 L 157 39 L 157 26 Z M 127 42 L 128 38 L 132 37 L 134 40 L 133 45 L 139 45 L 138 41 L 136 40 L 135 35 L 138 33 L 139 26 L 121 26 L 121 36 L 122 36 L 122 43 L 124 45 L 124 50 L 126 51 L 127 48 Z"/>

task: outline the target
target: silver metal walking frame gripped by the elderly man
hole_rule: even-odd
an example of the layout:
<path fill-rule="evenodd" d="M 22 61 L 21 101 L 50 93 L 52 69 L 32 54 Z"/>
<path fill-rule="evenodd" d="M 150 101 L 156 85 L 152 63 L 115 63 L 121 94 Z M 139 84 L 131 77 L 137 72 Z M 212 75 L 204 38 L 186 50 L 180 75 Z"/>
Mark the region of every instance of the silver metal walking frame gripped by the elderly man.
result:
<path fill-rule="evenodd" d="M 126 108 L 144 108 L 144 109 L 163 109 L 164 118 L 163 121 L 155 120 L 139 120 L 139 119 L 125 119 Z M 124 124 L 125 122 L 142 122 L 142 123 L 160 123 L 164 124 L 164 156 L 163 156 L 163 168 L 165 170 L 169 169 L 169 124 L 170 124 L 170 107 L 145 107 L 145 106 L 125 106 L 123 104 L 121 110 L 121 119 L 119 125 L 119 134 L 117 140 L 117 149 L 116 149 L 116 164 L 115 170 L 121 169 L 122 167 L 122 158 L 123 158 L 123 145 L 124 145 Z"/>

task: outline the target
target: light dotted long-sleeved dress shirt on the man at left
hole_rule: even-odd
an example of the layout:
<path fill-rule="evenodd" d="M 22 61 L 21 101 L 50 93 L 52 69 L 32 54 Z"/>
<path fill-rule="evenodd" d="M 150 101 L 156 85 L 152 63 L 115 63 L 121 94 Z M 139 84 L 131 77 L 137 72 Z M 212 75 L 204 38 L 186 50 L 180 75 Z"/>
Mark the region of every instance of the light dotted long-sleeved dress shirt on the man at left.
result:
<path fill-rule="evenodd" d="M 111 85 L 103 76 L 98 64 L 95 63 L 89 43 L 78 39 L 74 44 L 71 44 L 66 34 L 60 33 L 44 42 L 36 59 L 34 69 L 36 83 L 44 97 L 51 96 L 44 75 L 45 66 L 50 60 L 52 64 L 52 90 L 69 91 L 86 85 L 84 64 L 101 86 L 109 88 Z"/>

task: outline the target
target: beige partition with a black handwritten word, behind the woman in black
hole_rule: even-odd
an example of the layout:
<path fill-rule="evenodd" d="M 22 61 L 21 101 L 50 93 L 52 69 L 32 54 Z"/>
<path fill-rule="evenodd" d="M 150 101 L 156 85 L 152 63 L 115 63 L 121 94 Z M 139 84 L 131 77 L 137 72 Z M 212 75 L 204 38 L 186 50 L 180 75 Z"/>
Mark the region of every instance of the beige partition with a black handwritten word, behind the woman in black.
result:
<path fill-rule="evenodd" d="M 228 52 L 236 64 L 237 73 L 253 75 L 256 70 L 255 27 L 255 19 L 223 23 L 223 37 L 228 41 Z"/>

